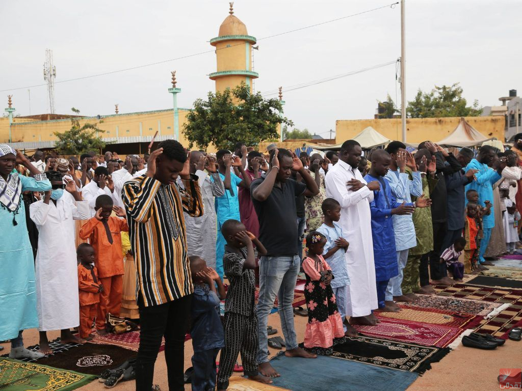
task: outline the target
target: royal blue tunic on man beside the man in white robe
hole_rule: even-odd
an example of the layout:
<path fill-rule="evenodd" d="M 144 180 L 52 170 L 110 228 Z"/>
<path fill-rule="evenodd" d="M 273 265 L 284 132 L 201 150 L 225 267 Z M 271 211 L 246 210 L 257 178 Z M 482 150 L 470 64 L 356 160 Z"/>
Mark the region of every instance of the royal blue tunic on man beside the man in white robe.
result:
<path fill-rule="evenodd" d="M 398 207 L 400 203 L 397 202 L 392 194 L 392 186 L 388 179 L 384 177 L 375 178 L 370 174 L 367 174 L 364 179 L 367 182 L 378 180 L 381 184 L 381 190 L 373 192 L 370 210 L 372 212 L 375 279 L 377 281 L 386 281 L 399 274 L 392 209 Z"/>

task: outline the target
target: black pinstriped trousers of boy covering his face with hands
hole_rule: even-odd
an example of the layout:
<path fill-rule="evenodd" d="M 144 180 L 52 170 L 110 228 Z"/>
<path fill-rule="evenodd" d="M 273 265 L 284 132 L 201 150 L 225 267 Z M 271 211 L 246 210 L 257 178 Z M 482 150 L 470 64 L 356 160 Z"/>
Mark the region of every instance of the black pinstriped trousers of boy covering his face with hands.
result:
<path fill-rule="evenodd" d="M 256 355 L 259 347 L 257 335 L 257 314 L 245 316 L 225 312 L 225 347 L 219 357 L 218 389 L 227 388 L 234 364 L 241 353 L 243 373 L 255 376 L 257 372 Z"/>

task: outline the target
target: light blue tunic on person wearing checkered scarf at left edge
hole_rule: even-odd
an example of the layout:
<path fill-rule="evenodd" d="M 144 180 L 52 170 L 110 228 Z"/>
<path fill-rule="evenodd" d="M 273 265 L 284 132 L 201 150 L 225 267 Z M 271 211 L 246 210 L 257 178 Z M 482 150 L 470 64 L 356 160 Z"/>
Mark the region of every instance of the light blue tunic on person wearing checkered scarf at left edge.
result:
<path fill-rule="evenodd" d="M 51 190 L 47 179 L 19 178 L 22 191 Z M 20 330 L 38 327 L 34 258 L 21 197 L 16 222 L 13 225 L 13 213 L 0 207 L 0 340 L 16 338 Z"/>

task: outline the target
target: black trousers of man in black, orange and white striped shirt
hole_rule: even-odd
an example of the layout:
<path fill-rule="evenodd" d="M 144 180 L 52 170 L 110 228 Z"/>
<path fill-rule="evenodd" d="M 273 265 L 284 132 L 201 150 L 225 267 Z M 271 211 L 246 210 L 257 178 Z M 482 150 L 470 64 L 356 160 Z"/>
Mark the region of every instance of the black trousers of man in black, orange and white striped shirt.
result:
<path fill-rule="evenodd" d="M 165 337 L 165 361 L 170 391 L 184 391 L 183 364 L 185 333 L 191 312 L 192 295 L 159 306 L 145 307 L 138 298 L 140 340 L 136 359 L 136 391 L 150 391 L 154 364 Z"/>

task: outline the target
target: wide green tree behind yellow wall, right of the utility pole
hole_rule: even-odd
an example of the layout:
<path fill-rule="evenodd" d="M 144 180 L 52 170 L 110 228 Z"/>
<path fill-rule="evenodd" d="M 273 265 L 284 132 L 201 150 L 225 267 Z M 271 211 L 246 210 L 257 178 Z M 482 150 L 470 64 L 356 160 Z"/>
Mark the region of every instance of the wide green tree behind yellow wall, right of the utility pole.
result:
<path fill-rule="evenodd" d="M 413 101 L 408 102 L 406 113 L 410 118 L 433 117 L 477 117 L 482 113 L 482 107 L 477 100 L 473 105 L 467 106 L 467 101 L 462 97 L 462 87 L 459 83 L 443 85 L 426 93 L 421 90 Z"/>

